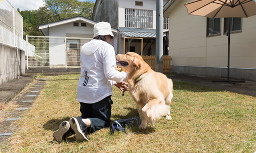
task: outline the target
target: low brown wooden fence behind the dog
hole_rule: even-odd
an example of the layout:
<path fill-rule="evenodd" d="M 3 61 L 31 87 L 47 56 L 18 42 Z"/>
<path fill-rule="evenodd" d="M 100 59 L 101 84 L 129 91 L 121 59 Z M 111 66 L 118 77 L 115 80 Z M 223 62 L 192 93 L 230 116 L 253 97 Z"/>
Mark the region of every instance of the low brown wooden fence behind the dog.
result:
<path fill-rule="evenodd" d="M 156 70 L 156 56 L 144 56 L 142 55 L 142 59 L 148 63 L 148 65 L 153 69 Z M 171 72 L 171 56 L 164 55 L 163 57 L 163 73 L 170 73 Z M 123 68 L 116 66 L 117 70 L 126 71 Z"/>

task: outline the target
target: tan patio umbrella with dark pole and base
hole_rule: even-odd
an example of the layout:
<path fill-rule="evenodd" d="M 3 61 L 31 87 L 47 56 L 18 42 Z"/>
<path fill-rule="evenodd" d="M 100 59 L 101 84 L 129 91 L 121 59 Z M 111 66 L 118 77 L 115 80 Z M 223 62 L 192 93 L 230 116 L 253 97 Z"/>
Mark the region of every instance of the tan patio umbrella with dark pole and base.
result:
<path fill-rule="evenodd" d="M 230 60 L 230 18 L 247 18 L 256 15 L 256 3 L 254 0 L 196 0 L 185 4 L 188 14 L 207 18 L 228 18 L 228 77 Z"/>

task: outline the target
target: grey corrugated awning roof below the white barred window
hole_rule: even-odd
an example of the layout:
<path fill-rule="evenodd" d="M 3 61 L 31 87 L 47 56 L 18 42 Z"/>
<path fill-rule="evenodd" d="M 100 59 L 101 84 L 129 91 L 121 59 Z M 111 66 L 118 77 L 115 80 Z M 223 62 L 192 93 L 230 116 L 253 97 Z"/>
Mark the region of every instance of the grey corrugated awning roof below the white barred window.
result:
<path fill-rule="evenodd" d="M 156 38 L 156 29 L 120 28 L 120 33 L 123 37 Z"/>

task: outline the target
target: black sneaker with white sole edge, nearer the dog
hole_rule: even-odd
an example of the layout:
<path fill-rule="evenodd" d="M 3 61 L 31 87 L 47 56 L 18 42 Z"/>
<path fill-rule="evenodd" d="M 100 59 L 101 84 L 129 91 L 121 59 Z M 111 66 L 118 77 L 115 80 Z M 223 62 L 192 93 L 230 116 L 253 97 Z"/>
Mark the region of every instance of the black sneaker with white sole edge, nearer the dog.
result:
<path fill-rule="evenodd" d="M 70 118 L 69 124 L 76 133 L 77 141 L 89 141 L 87 138 L 87 125 L 83 122 L 81 116 Z"/>

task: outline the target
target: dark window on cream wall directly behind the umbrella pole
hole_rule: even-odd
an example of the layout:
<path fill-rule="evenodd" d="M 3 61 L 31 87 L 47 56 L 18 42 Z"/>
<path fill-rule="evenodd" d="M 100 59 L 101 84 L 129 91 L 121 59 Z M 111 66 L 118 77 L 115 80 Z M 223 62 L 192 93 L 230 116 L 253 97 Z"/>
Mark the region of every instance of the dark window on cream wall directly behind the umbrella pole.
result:
<path fill-rule="evenodd" d="M 228 30 L 228 18 L 224 19 L 224 34 Z M 230 33 L 242 31 L 242 18 L 230 18 Z"/>

